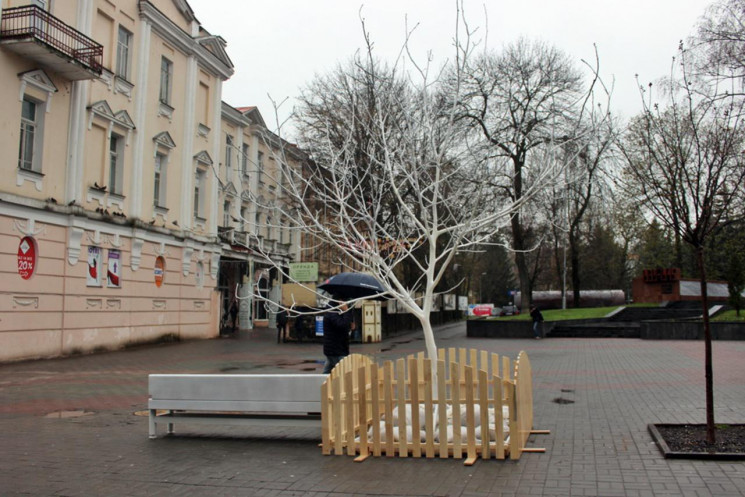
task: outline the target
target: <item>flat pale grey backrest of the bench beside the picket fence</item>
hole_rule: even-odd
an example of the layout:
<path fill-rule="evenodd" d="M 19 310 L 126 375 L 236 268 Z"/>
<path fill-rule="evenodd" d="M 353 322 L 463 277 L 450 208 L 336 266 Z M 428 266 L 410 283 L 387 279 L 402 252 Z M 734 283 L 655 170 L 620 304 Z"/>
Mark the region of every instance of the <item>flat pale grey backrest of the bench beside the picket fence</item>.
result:
<path fill-rule="evenodd" d="M 321 412 L 324 374 L 151 374 L 150 409 Z"/>

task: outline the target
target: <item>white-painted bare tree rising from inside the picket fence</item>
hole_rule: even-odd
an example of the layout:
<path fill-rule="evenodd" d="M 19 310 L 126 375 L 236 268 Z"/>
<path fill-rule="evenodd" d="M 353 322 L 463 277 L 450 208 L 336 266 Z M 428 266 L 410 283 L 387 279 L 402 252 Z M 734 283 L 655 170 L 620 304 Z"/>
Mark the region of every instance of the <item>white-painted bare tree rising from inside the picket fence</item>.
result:
<path fill-rule="evenodd" d="M 302 172 L 283 168 L 282 218 L 341 254 L 340 265 L 374 275 L 387 295 L 419 320 L 427 354 L 434 358 L 430 313 L 454 256 L 488 243 L 508 226 L 560 174 L 563 162 L 537 168 L 517 199 L 498 194 L 483 174 L 510 176 L 508 161 L 472 146 L 458 109 L 448 104 L 461 96 L 459 75 L 473 45 L 456 41 L 451 66 L 432 71 L 417 65 L 406 46 L 401 59 L 386 66 L 366 40 L 364 54 L 317 78 L 301 99 L 300 145 L 311 161 Z M 580 107 L 587 101 L 577 100 Z M 282 165 L 289 164 L 282 156 L 286 151 L 276 158 Z"/>

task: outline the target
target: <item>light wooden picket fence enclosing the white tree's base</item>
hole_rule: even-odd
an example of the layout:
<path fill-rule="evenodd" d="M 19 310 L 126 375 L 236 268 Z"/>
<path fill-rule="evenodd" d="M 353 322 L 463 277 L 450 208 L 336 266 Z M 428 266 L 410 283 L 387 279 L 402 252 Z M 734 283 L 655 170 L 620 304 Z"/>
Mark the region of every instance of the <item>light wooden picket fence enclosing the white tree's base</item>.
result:
<path fill-rule="evenodd" d="M 436 381 L 433 381 L 436 380 Z M 321 389 L 324 454 L 519 459 L 533 426 L 530 361 L 438 349 L 382 366 L 352 354 Z"/>

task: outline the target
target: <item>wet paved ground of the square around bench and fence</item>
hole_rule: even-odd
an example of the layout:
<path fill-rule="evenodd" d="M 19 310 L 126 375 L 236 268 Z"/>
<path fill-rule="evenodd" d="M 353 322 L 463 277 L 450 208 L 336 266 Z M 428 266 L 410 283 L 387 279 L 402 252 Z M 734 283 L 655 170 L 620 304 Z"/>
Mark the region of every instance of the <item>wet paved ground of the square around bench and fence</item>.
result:
<path fill-rule="evenodd" d="M 466 346 L 533 366 L 536 429 L 519 461 L 321 455 L 310 428 L 177 427 L 149 440 L 147 375 L 320 372 L 319 344 L 276 343 L 269 329 L 238 338 L 0 365 L 0 496 L 743 496 L 745 462 L 666 460 L 649 423 L 701 423 L 698 341 L 469 339 Z M 424 349 L 420 333 L 352 346 L 376 359 Z M 745 422 L 745 342 L 714 343 L 716 420 Z M 557 403 L 556 399 L 573 403 Z"/>

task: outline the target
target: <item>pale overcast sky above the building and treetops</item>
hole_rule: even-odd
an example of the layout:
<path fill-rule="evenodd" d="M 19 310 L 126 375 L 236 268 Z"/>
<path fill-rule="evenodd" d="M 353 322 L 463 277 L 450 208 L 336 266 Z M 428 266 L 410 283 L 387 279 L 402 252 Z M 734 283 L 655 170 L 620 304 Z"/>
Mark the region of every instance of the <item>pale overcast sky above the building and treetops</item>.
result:
<path fill-rule="evenodd" d="M 334 69 L 364 44 L 360 15 L 381 59 L 392 61 L 406 32 L 418 24 L 413 54 L 436 62 L 452 59 L 455 0 L 188 0 L 202 26 L 227 41 L 235 74 L 223 87 L 234 107 L 257 106 L 270 127 L 269 98 L 288 99 L 286 117 L 299 89 Z M 564 50 L 580 64 L 600 56 L 600 70 L 614 82 L 611 107 L 626 117 L 640 109 L 635 82 L 669 75 L 678 42 L 693 32 L 710 0 L 465 0 L 471 28 L 498 49 L 520 36 Z M 361 9 L 361 11 L 360 11 Z M 488 22 L 487 22 L 488 21 Z M 488 29 L 487 29 L 488 28 Z M 269 96 L 268 96 L 269 95 Z"/>

